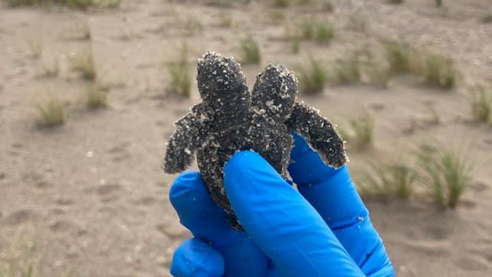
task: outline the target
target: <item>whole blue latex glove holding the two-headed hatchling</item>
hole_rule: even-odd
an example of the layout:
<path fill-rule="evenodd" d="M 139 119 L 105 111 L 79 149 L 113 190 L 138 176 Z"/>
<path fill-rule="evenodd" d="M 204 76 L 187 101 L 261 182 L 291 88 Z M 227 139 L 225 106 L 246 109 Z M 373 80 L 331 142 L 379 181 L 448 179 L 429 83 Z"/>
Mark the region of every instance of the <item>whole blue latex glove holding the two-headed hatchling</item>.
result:
<path fill-rule="evenodd" d="M 173 256 L 175 277 L 395 276 L 347 168 L 326 166 L 296 136 L 294 189 L 259 154 L 235 154 L 225 190 L 246 232 L 237 232 L 197 172 L 171 187 L 171 203 L 194 238 Z"/>

